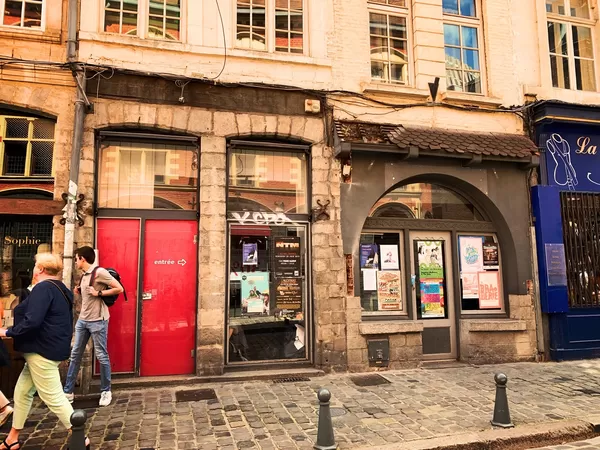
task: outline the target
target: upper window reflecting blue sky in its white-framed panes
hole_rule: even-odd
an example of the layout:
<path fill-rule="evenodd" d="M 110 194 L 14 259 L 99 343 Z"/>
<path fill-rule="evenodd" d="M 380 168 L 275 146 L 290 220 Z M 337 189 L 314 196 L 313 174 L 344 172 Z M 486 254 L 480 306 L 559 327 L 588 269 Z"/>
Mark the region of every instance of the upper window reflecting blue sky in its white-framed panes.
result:
<path fill-rule="evenodd" d="M 481 19 L 477 0 L 443 0 L 443 9 L 447 89 L 480 94 Z"/>

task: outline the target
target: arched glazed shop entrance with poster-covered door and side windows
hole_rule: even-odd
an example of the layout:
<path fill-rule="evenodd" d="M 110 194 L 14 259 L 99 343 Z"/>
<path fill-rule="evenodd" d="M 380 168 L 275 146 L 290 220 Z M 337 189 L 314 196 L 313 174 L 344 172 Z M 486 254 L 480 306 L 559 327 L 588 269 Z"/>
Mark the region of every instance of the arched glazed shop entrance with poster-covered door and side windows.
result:
<path fill-rule="evenodd" d="M 393 187 L 371 207 L 359 260 L 363 317 L 422 322 L 424 359 L 458 357 L 461 317 L 506 313 L 495 225 L 456 188 Z"/>

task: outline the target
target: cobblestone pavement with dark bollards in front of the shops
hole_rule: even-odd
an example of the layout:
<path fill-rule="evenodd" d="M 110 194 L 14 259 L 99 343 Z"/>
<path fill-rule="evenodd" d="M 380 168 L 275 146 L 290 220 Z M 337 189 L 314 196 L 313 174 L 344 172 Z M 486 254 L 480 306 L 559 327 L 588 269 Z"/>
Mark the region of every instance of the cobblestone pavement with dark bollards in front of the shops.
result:
<path fill-rule="evenodd" d="M 332 392 L 341 449 L 474 432 L 490 428 L 497 371 L 508 375 L 516 426 L 582 418 L 600 408 L 600 360 L 519 363 L 381 372 L 390 383 L 365 387 L 352 381 L 356 374 L 336 374 L 307 382 L 115 391 L 112 405 L 88 410 L 88 432 L 94 449 L 309 449 L 317 432 L 315 392 L 321 387 Z M 192 391 L 197 389 L 202 391 Z M 193 401 L 207 389 L 214 389 L 216 398 Z M 65 431 L 36 405 L 26 424 L 25 448 L 63 448 Z"/>

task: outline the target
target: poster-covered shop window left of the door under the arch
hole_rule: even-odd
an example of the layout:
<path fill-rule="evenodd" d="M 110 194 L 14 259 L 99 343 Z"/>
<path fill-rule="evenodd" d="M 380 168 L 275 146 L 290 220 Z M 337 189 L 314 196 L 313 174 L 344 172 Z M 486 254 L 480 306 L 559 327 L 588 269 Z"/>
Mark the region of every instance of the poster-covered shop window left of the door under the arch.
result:
<path fill-rule="evenodd" d="M 406 315 L 402 233 L 360 237 L 360 303 L 364 316 Z"/>

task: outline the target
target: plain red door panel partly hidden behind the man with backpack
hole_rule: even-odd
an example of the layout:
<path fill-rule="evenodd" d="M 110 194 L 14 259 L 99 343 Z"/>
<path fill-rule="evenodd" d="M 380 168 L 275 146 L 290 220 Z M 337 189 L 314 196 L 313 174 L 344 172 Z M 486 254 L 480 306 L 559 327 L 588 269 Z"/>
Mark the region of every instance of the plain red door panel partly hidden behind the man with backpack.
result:
<path fill-rule="evenodd" d="M 98 219 L 96 247 L 102 267 L 119 272 L 128 302 L 119 296 L 110 308 L 108 354 L 114 373 L 135 372 L 137 287 L 140 254 L 139 219 Z M 96 363 L 97 366 L 97 363 Z M 96 367 L 96 373 L 99 373 Z"/>

